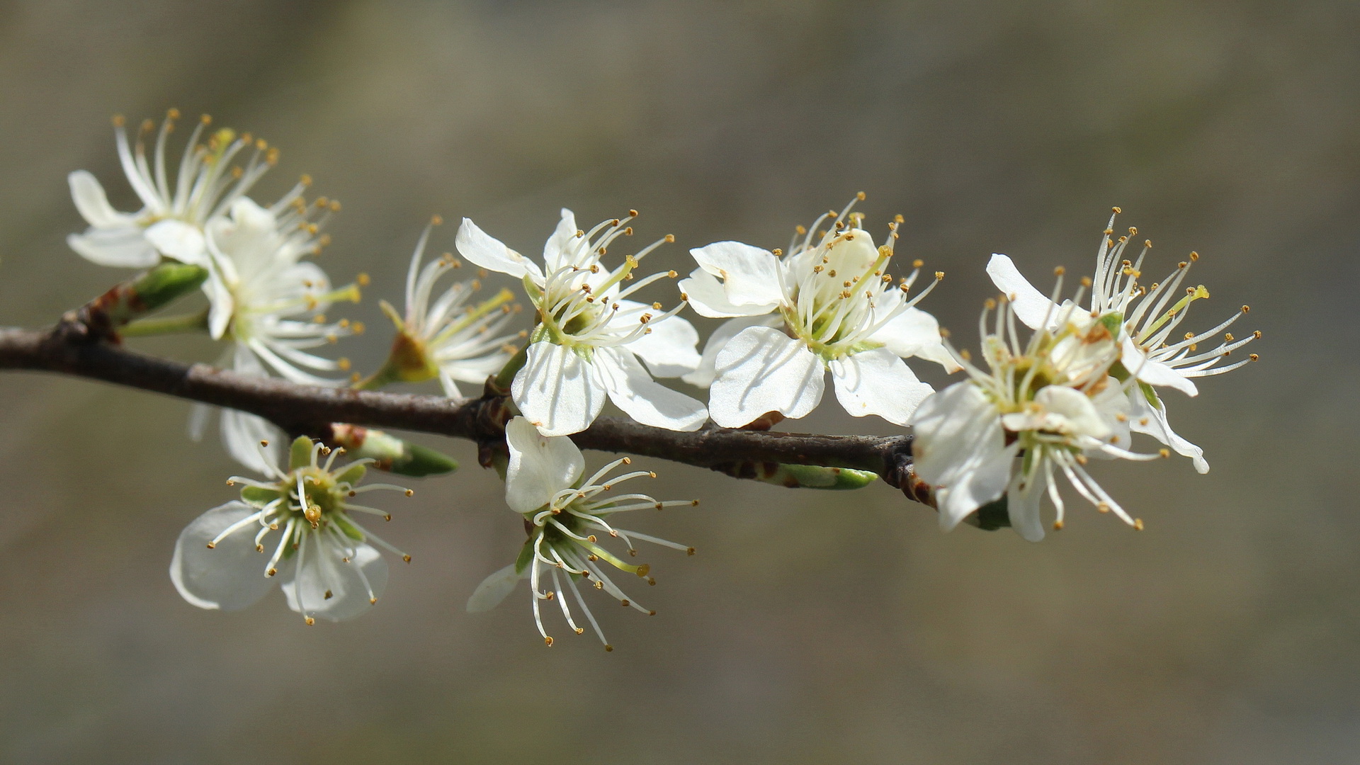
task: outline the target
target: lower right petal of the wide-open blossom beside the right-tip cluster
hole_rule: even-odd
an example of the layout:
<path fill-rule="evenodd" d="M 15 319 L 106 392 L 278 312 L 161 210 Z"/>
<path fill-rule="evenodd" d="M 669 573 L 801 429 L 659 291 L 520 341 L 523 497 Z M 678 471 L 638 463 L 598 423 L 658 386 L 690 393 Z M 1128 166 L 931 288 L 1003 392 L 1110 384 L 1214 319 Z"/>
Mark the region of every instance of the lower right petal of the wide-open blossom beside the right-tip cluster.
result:
<path fill-rule="evenodd" d="M 917 406 L 934 392 L 888 348 L 849 354 L 828 366 L 836 400 L 853 417 L 876 414 L 894 425 L 906 425 Z"/>

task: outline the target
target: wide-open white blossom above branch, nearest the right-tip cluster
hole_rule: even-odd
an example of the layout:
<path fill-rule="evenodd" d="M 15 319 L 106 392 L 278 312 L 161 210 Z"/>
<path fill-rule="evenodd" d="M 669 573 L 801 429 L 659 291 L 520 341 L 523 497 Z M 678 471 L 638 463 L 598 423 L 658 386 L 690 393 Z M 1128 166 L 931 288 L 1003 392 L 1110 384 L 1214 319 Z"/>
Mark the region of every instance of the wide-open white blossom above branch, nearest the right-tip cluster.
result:
<path fill-rule="evenodd" d="M 741 242 L 690 250 L 699 268 L 680 282 L 681 295 L 702 316 L 733 317 L 685 377 L 711 382 L 709 411 L 718 425 L 741 427 L 768 411 L 804 417 L 821 402 L 827 372 L 847 412 L 904 425 L 932 388 L 903 359 L 957 369 L 934 317 L 914 308 L 944 274 L 908 298 L 922 264 L 900 282 L 888 275 L 898 222 L 876 246 L 853 206 L 824 214 L 811 230 L 800 226 L 787 255 Z M 816 233 L 827 219 L 828 230 Z"/>

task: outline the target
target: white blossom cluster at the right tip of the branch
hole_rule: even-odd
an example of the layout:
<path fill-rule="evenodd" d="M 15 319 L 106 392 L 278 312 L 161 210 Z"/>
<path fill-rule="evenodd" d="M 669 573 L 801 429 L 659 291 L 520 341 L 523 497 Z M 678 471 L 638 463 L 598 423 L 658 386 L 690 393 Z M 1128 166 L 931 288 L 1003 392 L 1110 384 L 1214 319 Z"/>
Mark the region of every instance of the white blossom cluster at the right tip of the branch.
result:
<path fill-rule="evenodd" d="M 1115 214 L 1119 210 L 1115 208 Z M 1202 286 L 1180 287 L 1191 263 L 1178 264 L 1166 280 L 1140 284 L 1141 267 L 1152 242 L 1137 260 L 1123 259 L 1129 237 L 1111 238 L 1114 218 L 1102 234 L 1095 278 L 1059 302 L 1062 270 L 1051 297 L 1032 287 L 1009 257 L 994 255 L 989 274 L 1002 289 L 1001 305 L 989 301 L 982 313 L 985 368 L 959 354 L 968 380 L 926 399 L 911 425 L 914 470 L 932 485 L 944 528 L 982 505 L 1005 495 L 1010 524 L 1030 540 L 1043 538 L 1039 505 L 1050 498 L 1062 528 L 1065 505 L 1054 478 L 1062 475 L 1083 498 L 1102 512 L 1142 528 L 1087 471 L 1091 457 L 1148 460 L 1168 456 L 1127 449 L 1132 432 L 1151 434 L 1208 472 L 1204 452 L 1176 436 L 1166 404 L 1153 387 L 1172 387 L 1189 395 L 1194 377 L 1221 374 L 1257 359 L 1255 354 L 1220 366 L 1234 350 L 1259 338 L 1232 335 L 1198 351 L 1247 312 L 1247 306 L 1206 332 L 1172 339 L 1190 304 L 1209 297 Z M 1136 229 L 1129 235 L 1137 234 Z M 1091 290 L 1091 306 L 1083 293 Z M 1172 302 L 1174 299 L 1174 302 Z M 996 321 L 989 325 L 989 313 Z M 1016 324 L 1031 328 L 1020 342 Z M 990 328 L 989 328 L 990 327 Z M 1016 461 L 1019 457 L 1019 470 Z"/>

